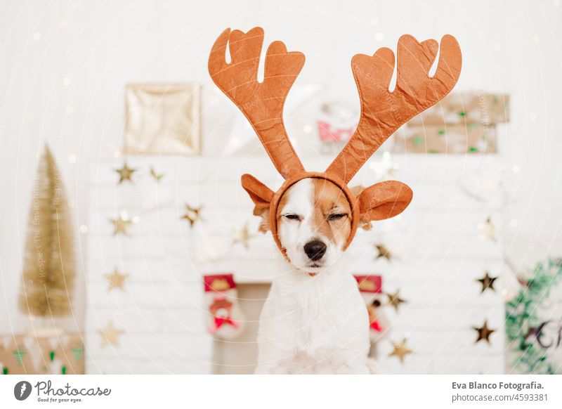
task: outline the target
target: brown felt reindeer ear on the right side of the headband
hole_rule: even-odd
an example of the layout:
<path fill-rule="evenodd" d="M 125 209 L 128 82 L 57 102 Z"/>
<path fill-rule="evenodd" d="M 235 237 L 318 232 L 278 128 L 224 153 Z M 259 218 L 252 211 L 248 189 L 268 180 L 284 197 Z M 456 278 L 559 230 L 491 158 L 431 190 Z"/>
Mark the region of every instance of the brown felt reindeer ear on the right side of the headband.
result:
<path fill-rule="evenodd" d="M 385 220 L 400 213 L 412 201 L 412 189 L 397 181 L 375 183 L 358 197 L 361 219 Z"/>

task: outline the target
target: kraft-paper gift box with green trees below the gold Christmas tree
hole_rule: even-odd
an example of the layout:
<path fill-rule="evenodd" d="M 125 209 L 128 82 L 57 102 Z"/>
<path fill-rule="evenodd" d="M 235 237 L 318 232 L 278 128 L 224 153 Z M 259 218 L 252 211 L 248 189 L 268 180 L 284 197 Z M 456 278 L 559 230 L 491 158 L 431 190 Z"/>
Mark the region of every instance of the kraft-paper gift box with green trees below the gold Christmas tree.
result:
<path fill-rule="evenodd" d="M 0 336 L 0 374 L 83 374 L 80 334 Z"/>

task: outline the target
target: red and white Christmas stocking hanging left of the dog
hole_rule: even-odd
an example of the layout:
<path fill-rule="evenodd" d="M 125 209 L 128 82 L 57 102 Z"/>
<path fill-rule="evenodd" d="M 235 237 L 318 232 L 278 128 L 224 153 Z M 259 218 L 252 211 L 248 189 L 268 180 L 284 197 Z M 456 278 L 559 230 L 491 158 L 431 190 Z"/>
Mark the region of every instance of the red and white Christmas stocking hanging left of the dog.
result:
<path fill-rule="evenodd" d="M 207 330 L 215 337 L 233 339 L 244 327 L 238 291 L 232 274 L 204 275 Z"/>

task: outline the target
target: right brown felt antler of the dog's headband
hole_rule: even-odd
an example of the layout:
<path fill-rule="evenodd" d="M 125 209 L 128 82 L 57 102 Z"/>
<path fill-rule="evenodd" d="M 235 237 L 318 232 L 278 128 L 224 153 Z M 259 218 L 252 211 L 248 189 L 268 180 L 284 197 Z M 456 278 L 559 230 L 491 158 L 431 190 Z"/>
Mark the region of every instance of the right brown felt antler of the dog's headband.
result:
<path fill-rule="evenodd" d="M 359 91 L 361 116 L 353 136 L 326 173 L 337 174 L 348 183 L 396 129 L 452 90 L 462 65 L 459 44 L 450 35 L 441 39 L 437 70 L 429 77 L 437 50 L 437 41 L 433 39 L 419 43 L 410 35 L 400 37 L 396 89 L 392 92 L 388 86 L 394 70 L 394 53 L 389 48 L 379 48 L 373 56 L 353 57 L 351 68 Z"/>

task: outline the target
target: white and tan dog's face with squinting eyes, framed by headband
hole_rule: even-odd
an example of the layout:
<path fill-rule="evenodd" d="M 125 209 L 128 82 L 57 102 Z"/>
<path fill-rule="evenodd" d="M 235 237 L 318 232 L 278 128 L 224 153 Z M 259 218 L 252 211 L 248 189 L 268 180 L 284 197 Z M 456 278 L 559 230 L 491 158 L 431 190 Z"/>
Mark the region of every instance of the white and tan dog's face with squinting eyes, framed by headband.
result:
<path fill-rule="evenodd" d="M 288 188 L 276 218 L 287 258 L 306 273 L 322 273 L 334 264 L 351 234 L 351 206 L 346 195 L 322 178 L 305 178 Z"/>

